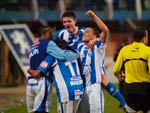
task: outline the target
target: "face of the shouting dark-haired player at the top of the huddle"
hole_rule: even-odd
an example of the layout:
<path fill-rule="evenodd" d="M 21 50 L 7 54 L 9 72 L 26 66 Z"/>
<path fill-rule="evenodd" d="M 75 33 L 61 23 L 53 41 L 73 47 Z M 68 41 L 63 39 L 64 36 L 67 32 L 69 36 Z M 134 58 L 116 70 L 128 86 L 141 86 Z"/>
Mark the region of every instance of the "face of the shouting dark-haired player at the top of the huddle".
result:
<path fill-rule="evenodd" d="M 74 33 L 76 30 L 76 20 L 71 17 L 63 17 L 62 18 L 63 26 L 69 33 Z"/>

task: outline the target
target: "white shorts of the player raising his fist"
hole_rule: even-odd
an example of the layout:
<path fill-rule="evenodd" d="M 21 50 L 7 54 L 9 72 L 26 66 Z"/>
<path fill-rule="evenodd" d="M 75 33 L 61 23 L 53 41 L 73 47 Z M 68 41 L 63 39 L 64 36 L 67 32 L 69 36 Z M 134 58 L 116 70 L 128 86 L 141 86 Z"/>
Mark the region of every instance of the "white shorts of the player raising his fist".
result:
<path fill-rule="evenodd" d="M 104 113 L 104 96 L 101 83 L 86 86 L 90 113 Z"/>

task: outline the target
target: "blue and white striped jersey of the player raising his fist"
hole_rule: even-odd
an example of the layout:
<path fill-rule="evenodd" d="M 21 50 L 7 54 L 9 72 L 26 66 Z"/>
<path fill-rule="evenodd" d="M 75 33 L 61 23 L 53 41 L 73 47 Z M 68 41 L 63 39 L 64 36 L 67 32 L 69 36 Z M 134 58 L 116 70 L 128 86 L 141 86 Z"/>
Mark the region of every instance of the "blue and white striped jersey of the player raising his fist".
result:
<path fill-rule="evenodd" d="M 86 85 L 101 82 L 101 74 L 104 73 L 104 50 L 105 44 L 101 41 L 97 41 L 92 50 L 88 49 L 84 43 L 78 44 L 77 51 L 81 56 Z"/>

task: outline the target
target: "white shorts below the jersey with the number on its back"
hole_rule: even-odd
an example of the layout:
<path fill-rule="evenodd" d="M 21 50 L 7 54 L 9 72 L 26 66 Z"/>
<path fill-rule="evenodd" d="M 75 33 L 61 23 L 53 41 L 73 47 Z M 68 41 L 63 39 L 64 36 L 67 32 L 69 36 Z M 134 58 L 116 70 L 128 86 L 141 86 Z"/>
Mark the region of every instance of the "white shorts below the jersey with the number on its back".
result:
<path fill-rule="evenodd" d="M 58 103 L 58 113 L 76 113 L 80 101 L 81 100 L 79 99 L 64 103 Z"/>

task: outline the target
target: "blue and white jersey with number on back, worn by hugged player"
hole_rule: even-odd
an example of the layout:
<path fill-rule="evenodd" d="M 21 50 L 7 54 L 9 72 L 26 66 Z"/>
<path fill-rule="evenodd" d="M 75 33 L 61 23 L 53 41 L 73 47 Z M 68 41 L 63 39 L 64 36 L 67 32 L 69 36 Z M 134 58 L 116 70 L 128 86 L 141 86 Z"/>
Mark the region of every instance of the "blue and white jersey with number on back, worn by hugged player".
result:
<path fill-rule="evenodd" d="M 40 64 L 38 70 L 46 73 L 53 68 L 53 80 L 60 103 L 83 97 L 84 86 L 77 60 L 61 62 L 52 56 L 47 56 Z"/>

